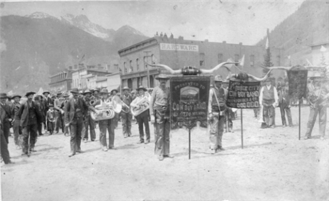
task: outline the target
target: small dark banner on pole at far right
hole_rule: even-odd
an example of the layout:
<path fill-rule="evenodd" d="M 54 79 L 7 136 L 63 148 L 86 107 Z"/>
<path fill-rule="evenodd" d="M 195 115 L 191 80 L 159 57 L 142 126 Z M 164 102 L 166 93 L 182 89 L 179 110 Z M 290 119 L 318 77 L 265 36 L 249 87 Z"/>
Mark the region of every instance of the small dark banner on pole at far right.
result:
<path fill-rule="evenodd" d="M 287 71 L 289 83 L 288 94 L 291 97 L 301 99 L 306 95 L 307 73 L 307 69 L 299 65 Z"/>

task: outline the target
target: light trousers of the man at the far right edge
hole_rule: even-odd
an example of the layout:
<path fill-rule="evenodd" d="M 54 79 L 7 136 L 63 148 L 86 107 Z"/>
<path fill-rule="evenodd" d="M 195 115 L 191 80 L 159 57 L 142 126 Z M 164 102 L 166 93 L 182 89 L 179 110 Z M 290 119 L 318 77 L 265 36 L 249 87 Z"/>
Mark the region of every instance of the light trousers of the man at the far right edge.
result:
<path fill-rule="evenodd" d="M 306 137 L 310 137 L 312 130 L 317 120 L 317 114 L 319 114 L 319 131 L 320 135 L 324 137 L 326 132 L 327 123 L 327 108 L 324 106 L 310 107 L 310 115 L 308 116 Z"/>

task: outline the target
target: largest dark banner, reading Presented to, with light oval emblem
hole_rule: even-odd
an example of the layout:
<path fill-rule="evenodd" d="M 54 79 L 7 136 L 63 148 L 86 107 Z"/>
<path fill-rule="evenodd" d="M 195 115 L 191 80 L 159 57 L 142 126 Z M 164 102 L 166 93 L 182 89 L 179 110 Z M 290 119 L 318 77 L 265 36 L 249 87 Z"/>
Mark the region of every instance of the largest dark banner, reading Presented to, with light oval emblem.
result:
<path fill-rule="evenodd" d="M 207 128 L 210 76 L 170 78 L 171 129 L 192 129 L 196 122 Z"/>

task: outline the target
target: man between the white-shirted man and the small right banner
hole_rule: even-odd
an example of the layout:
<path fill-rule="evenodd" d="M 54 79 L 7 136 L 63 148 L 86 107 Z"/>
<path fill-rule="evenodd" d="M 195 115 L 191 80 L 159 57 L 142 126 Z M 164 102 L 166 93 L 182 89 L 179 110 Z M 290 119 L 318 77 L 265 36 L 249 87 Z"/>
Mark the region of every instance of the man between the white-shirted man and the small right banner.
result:
<path fill-rule="evenodd" d="M 291 98 L 288 95 L 288 82 L 282 83 L 279 91 L 279 107 L 282 119 L 282 127 L 286 127 L 286 116 L 288 117 L 288 125 L 293 127 L 293 119 L 291 118 Z"/>

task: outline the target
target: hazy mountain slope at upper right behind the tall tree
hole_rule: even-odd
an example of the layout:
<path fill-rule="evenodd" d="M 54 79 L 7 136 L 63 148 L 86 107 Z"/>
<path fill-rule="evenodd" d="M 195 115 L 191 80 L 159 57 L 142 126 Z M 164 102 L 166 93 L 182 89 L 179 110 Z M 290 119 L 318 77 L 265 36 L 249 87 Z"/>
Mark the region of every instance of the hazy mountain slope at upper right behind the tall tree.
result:
<path fill-rule="evenodd" d="M 306 58 L 312 60 L 309 45 L 329 41 L 328 10 L 328 1 L 304 1 L 269 34 L 270 47 L 284 49 L 285 65 L 306 64 Z M 266 37 L 257 45 L 265 43 Z"/>

